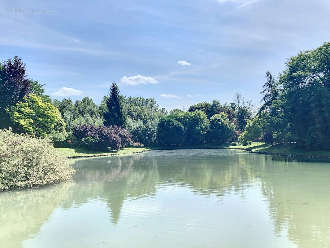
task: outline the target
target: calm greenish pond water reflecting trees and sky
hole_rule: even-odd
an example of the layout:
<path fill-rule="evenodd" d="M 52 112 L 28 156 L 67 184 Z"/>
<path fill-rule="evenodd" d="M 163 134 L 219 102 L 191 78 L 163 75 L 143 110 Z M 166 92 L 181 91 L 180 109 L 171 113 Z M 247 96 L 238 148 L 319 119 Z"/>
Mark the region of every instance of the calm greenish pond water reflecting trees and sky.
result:
<path fill-rule="evenodd" d="M 74 160 L 0 193 L 0 247 L 330 247 L 330 163 L 237 150 Z"/>

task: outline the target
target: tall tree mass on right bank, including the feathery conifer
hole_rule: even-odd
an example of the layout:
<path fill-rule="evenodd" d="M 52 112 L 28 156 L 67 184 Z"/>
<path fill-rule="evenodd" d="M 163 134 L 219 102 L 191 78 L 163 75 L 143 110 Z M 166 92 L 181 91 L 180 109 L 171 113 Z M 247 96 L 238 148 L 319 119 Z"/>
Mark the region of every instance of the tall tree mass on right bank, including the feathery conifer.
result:
<path fill-rule="evenodd" d="M 278 81 L 269 72 L 266 78 L 264 105 L 241 139 L 329 149 L 330 43 L 291 57 Z"/>

